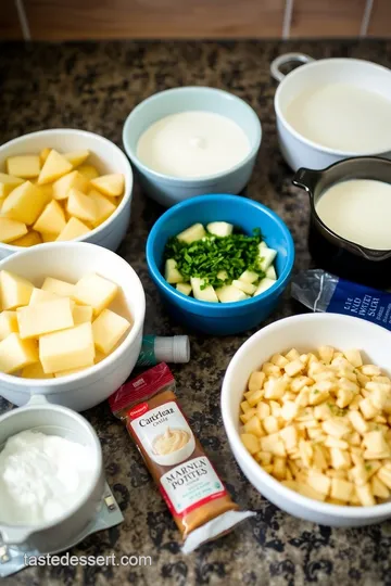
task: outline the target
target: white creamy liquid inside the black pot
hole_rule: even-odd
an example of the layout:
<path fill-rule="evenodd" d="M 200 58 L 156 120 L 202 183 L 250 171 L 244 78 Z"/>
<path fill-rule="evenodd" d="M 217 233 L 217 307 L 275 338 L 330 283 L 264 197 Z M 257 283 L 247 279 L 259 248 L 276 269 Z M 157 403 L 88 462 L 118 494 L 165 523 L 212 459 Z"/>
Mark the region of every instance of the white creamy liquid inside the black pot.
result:
<path fill-rule="evenodd" d="M 331 186 L 316 203 L 336 234 L 378 251 L 391 249 L 391 183 L 351 179 Z"/>

